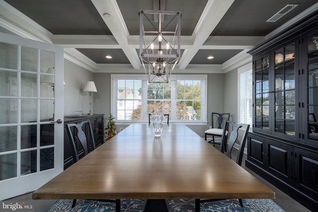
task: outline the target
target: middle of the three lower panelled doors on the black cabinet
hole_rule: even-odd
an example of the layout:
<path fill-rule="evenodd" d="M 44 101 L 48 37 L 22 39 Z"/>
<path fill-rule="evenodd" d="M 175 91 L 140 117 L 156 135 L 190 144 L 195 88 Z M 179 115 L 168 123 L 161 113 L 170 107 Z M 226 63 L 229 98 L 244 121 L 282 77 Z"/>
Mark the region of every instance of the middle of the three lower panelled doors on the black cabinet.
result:
<path fill-rule="evenodd" d="M 266 156 L 267 170 L 286 181 L 291 181 L 292 146 L 273 140 L 267 140 Z"/>

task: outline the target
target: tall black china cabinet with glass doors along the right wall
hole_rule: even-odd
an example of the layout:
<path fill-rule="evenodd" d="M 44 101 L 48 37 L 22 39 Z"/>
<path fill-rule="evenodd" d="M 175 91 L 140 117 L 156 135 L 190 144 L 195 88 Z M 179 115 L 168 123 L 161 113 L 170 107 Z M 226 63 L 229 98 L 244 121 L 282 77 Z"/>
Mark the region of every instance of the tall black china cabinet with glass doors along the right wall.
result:
<path fill-rule="evenodd" d="M 253 126 L 246 167 L 318 208 L 318 12 L 250 53 Z"/>

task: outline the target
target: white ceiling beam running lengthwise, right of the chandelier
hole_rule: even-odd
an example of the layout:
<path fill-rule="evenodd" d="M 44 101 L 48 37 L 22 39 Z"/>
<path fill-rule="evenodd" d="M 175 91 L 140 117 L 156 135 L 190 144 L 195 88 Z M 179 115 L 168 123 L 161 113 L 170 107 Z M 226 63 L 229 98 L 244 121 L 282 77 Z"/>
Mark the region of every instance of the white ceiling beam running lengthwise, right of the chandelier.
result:
<path fill-rule="evenodd" d="M 194 46 L 190 50 L 185 50 L 182 54 L 182 57 L 179 61 L 180 69 L 185 69 L 188 66 L 192 58 L 199 51 L 201 45 L 203 45 L 210 36 L 214 28 L 220 22 L 221 18 L 225 15 L 233 2 L 234 0 L 208 1 L 192 34 L 194 38 Z"/>

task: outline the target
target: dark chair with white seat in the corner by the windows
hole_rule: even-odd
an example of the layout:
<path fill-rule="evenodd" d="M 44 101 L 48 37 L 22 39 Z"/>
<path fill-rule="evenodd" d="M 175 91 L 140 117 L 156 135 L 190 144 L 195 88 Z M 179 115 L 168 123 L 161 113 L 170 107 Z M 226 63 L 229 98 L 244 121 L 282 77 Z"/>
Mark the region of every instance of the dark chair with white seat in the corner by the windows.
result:
<path fill-rule="evenodd" d="M 208 142 L 209 143 L 213 142 L 213 144 L 215 144 L 214 137 L 222 137 L 222 133 L 223 133 L 222 126 L 225 120 L 230 120 L 230 113 L 212 113 L 212 118 L 211 118 L 212 128 L 204 132 L 205 141 L 207 141 L 207 136 L 212 136 L 212 140 Z M 226 132 L 226 136 L 227 135 L 228 135 L 228 132 Z"/>

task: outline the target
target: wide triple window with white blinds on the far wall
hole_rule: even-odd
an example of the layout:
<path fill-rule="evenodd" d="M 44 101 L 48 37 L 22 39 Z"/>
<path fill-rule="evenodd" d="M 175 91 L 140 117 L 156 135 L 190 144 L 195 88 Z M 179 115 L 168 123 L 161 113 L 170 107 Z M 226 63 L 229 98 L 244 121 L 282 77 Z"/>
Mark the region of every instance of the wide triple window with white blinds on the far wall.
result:
<path fill-rule="evenodd" d="M 207 75 L 171 75 L 168 83 L 149 83 L 141 74 L 111 78 L 117 121 L 145 122 L 149 113 L 164 113 L 169 122 L 206 122 Z"/>

